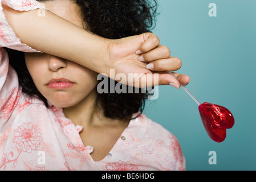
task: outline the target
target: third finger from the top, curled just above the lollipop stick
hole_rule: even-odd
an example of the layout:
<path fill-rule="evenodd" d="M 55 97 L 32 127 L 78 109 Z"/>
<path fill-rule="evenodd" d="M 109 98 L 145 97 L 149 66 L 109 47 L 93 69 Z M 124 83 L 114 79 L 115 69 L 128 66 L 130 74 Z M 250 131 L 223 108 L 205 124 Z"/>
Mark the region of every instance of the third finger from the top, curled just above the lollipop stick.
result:
<path fill-rule="evenodd" d="M 152 61 L 146 68 L 151 71 L 177 71 L 181 65 L 181 60 L 178 57 L 169 57 L 168 59 Z"/>

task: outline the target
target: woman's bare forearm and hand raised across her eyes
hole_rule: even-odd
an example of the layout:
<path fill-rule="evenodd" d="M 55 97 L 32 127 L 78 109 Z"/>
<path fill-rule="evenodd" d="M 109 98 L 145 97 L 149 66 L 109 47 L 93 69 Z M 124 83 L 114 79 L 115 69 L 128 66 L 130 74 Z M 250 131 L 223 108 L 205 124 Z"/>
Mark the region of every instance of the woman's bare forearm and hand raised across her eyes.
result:
<path fill-rule="evenodd" d="M 68 0 L 60 2 L 63 1 Z M 62 18 L 61 15 L 64 13 L 58 16 L 51 11 L 45 11 L 44 16 L 38 16 L 38 9 L 16 11 L 5 4 L 2 4 L 2 7 L 15 35 L 22 43 L 36 50 L 74 61 L 97 73 L 105 73 L 108 77 L 112 68 L 115 68 L 115 76 L 119 73 L 125 76 L 129 73 L 140 75 L 131 83 L 121 80 L 122 84 L 134 86 L 139 82 L 140 86 L 151 86 L 152 81 L 143 77 L 152 75 L 154 78 L 158 76 L 155 73 L 159 73 L 159 83 L 154 83 L 154 86 L 168 85 L 172 82 L 179 88 L 181 84 L 186 85 L 189 82 L 186 75 L 176 73 L 176 80 L 165 72 L 180 69 L 181 61 L 177 57 L 169 57 L 169 49 L 159 44 L 159 38 L 155 34 L 144 33 L 111 40 L 84 31 L 84 28 Z M 136 54 L 137 51 L 142 54 Z M 149 62 L 153 63 L 155 68 L 147 69 L 146 65 Z"/>

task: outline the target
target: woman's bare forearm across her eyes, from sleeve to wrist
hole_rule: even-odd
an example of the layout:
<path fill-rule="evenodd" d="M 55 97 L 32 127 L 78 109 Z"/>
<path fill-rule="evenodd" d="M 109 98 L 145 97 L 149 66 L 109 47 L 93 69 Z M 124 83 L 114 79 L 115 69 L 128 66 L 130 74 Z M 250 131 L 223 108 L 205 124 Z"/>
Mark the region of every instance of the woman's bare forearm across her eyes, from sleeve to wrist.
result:
<path fill-rule="evenodd" d="M 3 5 L 3 12 L 22 43 L 93 71 L 102 71 L 108 39 L 91 34 L 50 11 L 46 11 L 46 16 L 38 16 L 38 10 L 15 11 Z"/>

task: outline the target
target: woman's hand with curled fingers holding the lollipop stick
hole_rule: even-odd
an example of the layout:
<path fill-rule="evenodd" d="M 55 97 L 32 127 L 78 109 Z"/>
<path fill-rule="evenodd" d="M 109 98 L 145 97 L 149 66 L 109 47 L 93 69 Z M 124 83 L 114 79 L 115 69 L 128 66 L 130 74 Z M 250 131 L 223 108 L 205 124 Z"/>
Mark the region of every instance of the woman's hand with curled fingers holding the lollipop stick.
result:
<path fill-rule="evenodd" d="M 166 72 L 180 69 L 181 60 L 170 57 L 169 49 L 159 45 L 159 38 L 155 34 L 145 33 L 112 40 L 108 52 L 108 67 L 105 67 L 105 73 L 122 84 L 145 88 L 172 83 L 172 86 L 180 88 L 181 84 L 187 85 L 190 81 L 187 75 L 174 73 L 177 80 Z M 147 68 L 148 64 L 153 64 L 154 68 Z M 110 76 L 111 68 L 115 71 L 115 77 Z M 119 74 L 123 76 L 120 78 Z M 134 77 L 132 80 L 129 79 L 131 74 Z"/>

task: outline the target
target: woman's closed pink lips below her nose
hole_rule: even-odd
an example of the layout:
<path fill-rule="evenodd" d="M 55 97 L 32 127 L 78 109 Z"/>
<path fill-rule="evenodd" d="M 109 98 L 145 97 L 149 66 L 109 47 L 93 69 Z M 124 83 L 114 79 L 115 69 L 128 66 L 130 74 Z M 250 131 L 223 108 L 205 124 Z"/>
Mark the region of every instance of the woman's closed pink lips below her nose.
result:
<path fill-rule="evenodd" d="M 53 78 L 47 82 L 46 86 L 52 89 L 67 89 L 74 86 L 75 83 L 68 80 L 67 78 Z"/>

